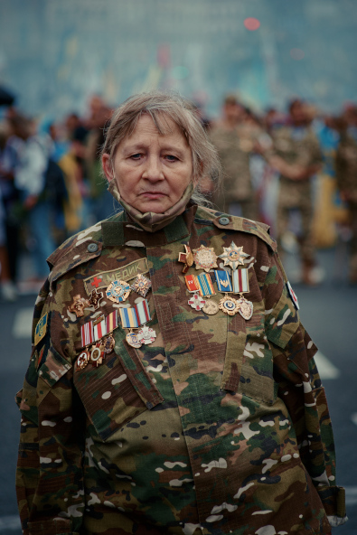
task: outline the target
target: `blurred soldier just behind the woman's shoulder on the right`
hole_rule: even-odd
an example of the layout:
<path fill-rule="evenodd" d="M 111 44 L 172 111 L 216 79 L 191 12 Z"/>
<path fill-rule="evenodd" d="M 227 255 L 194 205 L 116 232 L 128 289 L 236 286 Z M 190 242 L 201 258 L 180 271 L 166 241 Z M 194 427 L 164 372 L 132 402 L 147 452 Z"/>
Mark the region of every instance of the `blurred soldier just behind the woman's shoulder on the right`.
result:
<path fill-rule="evenodd" d="M 221 211 L 253 221 L 258 220 L 258 201 L 249 164 L 262 134 L 261 128 L 244 121 L 244 109 L 232 95 L 224 99 L 223 117 L 210 132 L 223 168 L 222 185 L 214 202 Z"/>

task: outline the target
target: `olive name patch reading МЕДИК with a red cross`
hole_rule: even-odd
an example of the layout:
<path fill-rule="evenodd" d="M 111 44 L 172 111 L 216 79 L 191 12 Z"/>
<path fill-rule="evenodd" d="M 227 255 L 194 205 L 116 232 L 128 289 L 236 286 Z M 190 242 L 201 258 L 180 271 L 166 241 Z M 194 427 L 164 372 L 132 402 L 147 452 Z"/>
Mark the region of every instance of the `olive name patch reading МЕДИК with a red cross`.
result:
<path fill-rule="evenodd" d="M 144 275 L 148 273 L 149 267 L 147 264 L 147 258 L 139 258 L 130 262 L 127 266 L 119 267 L 117 269 L 112 269 L 111 271 L 102 271 L 97 273 L 94 277 L 88 277 L 84 279 L 84 287 L 88 296 L 91 296 L 91 293 L 94 288 L 107 288 L 110 283 L 116 280 L 126 281 L 131 278 L 136 277 L 137 275 Z"/>

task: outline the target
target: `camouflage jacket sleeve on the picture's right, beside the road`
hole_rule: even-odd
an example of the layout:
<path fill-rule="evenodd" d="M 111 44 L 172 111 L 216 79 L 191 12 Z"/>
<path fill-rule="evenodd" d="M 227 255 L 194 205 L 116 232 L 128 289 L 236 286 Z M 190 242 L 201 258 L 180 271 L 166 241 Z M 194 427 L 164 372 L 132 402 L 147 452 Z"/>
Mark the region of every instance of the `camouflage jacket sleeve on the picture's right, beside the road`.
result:
<path fill-rule="evenodd" d="M 272 256 L 263 291 L 277 395 L 289 411 L 306 472 L 319 493 L 330 524 L 337 526 L 347 520 L 344 489 L 335 486 L 334 436 L 314 360 L 317 348 L 300 322 L 277 254 Z"/>

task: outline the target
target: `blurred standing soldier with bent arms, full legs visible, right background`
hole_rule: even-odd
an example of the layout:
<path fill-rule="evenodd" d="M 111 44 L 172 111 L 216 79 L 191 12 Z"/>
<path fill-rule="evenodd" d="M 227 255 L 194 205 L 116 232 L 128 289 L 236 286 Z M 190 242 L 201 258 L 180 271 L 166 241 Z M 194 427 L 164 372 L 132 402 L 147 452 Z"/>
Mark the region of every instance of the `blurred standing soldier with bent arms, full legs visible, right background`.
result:
<path fill-rule="evenodd" d="M 301 216 L 300 255 L 303 281 L 314 284 L 311 277 L 316 265 L 315 244 L 312 237 L 314 206 L 311 192 L 311 177 L 322 164 L 320 146 L 311 127 L 307 126 L 307 114 L 303 102 L 296 99 L 290 107 L 290 123 L 272 131 L 273 150 L 270 162 L 280 172 L 277 199 L 277 243 L 288 230 L 289 216 L 297 210 Z M 276 158 L 276 160 L 274 160 Z M 279 247 L 280 250 L 280 247 Z"/>

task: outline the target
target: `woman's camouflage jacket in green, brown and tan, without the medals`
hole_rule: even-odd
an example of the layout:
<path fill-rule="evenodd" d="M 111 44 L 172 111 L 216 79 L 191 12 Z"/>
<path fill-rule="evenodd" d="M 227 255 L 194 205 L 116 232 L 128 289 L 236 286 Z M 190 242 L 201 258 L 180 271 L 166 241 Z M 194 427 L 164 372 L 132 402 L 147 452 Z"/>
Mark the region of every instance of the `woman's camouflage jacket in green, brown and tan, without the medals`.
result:
<path fill-rule="evenodd" d="M 23 533 L 329 533 L 329 521 L 343 523 L 344 494 L 316 348 L 265 226 L 195 206 L 155 233 L 125 217 L 49 258 L 17 397 Z M 232 241 L 248 255 L 249 320 L 189 306 L 177 261 L 183 244 L 219 255 Z M 117 305 L 106 287 L 138 273 L 152 283 L 155 342 L 135 349 L 119 324 L 114 350 L 81 369 L 80 327 L 134 305 L 134 291 Z M 99 308 L 77 316 L 73 300 L 93 288 Z"/>

